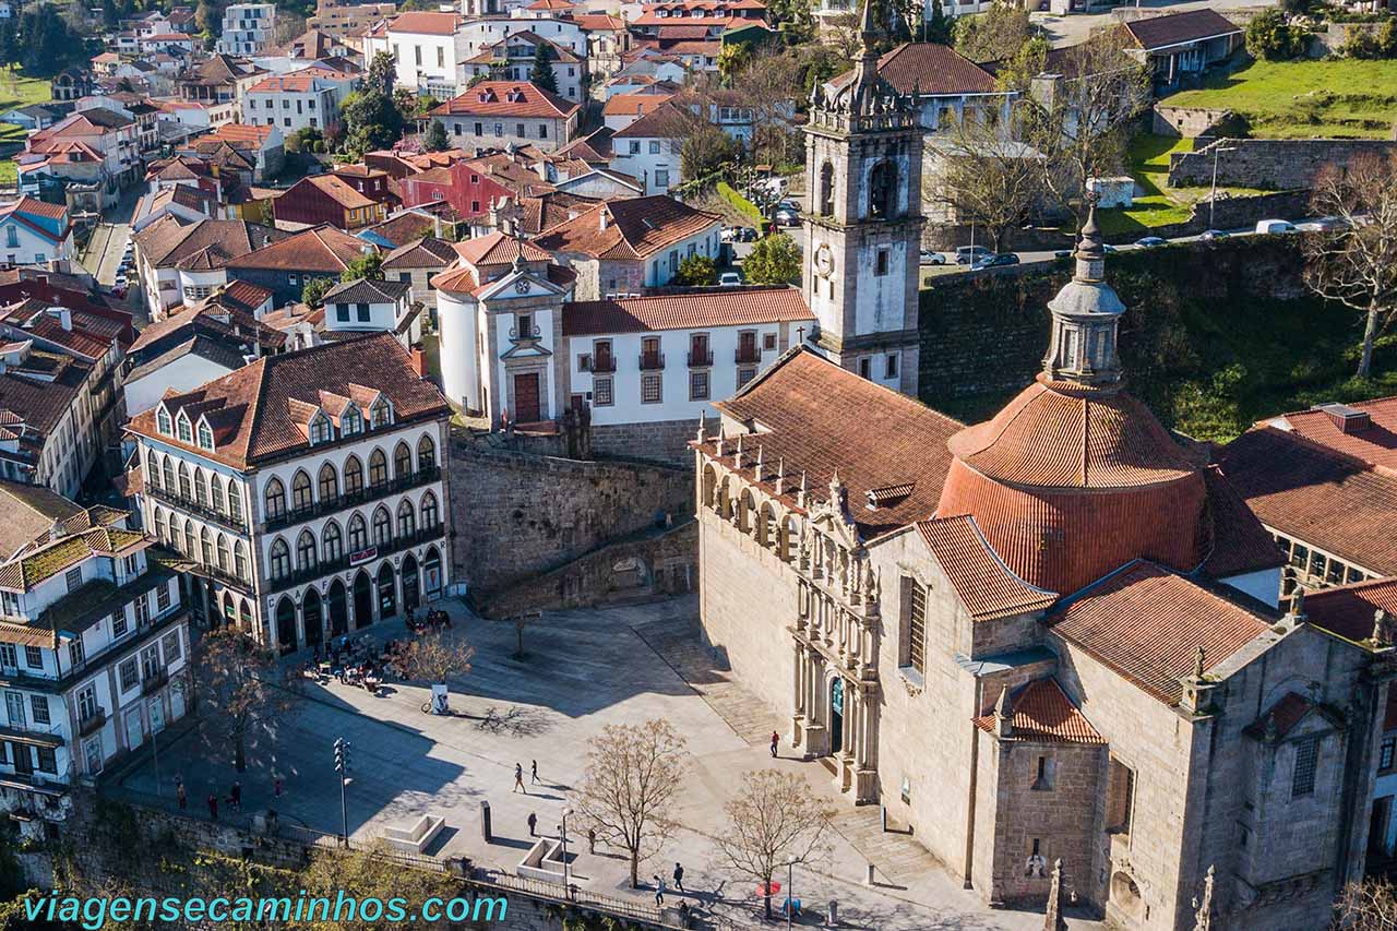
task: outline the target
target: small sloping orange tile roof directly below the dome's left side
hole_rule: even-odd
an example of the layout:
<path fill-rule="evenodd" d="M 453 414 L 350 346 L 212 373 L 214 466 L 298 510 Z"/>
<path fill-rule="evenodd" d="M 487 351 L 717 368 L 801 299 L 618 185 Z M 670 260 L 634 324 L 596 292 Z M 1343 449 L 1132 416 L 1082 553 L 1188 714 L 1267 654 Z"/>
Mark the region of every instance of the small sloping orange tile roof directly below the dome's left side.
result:
<path fill-rule="evenodd" d="M 916 528 L 975 621 L 1042 611 L 1058 600 L 1058 593 L 1037 589 L 1010 572 L 974 517 L 923 520 Z"/>

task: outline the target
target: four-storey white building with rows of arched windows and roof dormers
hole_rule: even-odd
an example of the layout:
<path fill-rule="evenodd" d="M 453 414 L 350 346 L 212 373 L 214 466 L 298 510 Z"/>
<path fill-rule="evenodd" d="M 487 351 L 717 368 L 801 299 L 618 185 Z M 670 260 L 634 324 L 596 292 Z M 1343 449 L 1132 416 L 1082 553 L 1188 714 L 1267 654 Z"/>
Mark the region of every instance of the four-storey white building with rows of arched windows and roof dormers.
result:
<path fill-rule="evenodd" d="M 450 408 L 381 333 L 263 356 L 129 425 L 191 607 L 282 653 L 441 597 Z"/>

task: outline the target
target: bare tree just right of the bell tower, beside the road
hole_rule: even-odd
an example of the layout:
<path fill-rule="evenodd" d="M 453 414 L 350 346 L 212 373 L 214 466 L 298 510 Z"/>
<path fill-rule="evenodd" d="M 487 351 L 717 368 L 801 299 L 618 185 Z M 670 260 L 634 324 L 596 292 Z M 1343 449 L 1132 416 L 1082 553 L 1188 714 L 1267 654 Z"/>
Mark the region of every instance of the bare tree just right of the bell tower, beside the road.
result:
<path fill-rule="evenodd" d="M 923 200 L 981 226 L 1000 252 L 1042 203 L 1044 155 L 993 120 L 967 115 L 930 137 Z"/>

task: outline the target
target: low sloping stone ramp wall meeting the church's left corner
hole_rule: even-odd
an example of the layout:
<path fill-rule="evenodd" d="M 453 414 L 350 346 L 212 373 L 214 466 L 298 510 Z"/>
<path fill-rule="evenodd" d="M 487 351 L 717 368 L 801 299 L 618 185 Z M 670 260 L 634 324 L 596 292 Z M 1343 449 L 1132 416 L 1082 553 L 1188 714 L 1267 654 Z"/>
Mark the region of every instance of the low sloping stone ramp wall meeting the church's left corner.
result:
<path fill-rule="evenodd" d="M 488 618 L 534 608 L 583 608 L 634 602 L 698 587 L 698 526 L 645 530 L 595 549 L 566 566 L 529 577 L 478 604 Z"/>

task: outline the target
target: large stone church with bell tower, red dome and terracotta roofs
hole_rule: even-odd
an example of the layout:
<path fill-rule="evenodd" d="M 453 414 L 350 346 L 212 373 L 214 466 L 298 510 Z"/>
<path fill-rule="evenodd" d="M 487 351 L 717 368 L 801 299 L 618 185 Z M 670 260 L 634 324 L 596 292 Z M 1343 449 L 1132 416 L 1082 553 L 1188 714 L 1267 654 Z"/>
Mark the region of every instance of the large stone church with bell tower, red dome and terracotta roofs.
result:
<path fill-rule="evenodd" d="M 1094 214 L 1032 383 L 977 425 L 909 397 L 919 143 L 873 64 L 812 101 L 819 327 L 692 442 L 708 646 L 989 904 L 1042 907 L 1060 861 L 1123 927 L 1326 927 L 1363 874 L 1384 618 L 1280 609 L 1273 537 L 1126 390 Z"/>

